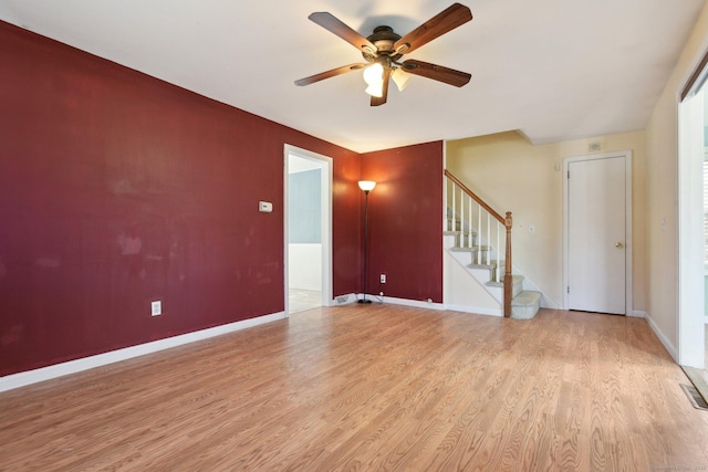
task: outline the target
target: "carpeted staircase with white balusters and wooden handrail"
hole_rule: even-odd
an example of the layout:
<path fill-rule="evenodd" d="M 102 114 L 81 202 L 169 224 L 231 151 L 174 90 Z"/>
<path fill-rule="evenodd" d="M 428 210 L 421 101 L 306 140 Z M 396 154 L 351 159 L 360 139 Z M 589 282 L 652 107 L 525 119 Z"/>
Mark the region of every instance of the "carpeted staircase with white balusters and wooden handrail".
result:
<path fill-rule="evenodd" d="M 507 213 L 507 219 L 500 217 L 447 170 L 445 175 L 448 180 L 445 250 L 499 303 L 504 316 L 532 318 L 539 311 L 541 293 L 524 291 L 524 276 L 512 274 L 511 213 Z M 506 252 L 500 250 L 502 247 Z M 504 287 L 507 276 L 510 283 Z"/>

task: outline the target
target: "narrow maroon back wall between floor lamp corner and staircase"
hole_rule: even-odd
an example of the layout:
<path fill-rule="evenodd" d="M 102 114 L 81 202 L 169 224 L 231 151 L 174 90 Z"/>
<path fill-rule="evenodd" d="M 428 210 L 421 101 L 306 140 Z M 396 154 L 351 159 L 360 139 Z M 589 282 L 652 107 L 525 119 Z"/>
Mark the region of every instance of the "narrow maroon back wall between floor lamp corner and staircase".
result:
<path fill-rule="evenodd" d="M 368 293 L 442 303 L 442 141 L 364 154 L 362 179 L 377 182 L 368 196 Z"/>

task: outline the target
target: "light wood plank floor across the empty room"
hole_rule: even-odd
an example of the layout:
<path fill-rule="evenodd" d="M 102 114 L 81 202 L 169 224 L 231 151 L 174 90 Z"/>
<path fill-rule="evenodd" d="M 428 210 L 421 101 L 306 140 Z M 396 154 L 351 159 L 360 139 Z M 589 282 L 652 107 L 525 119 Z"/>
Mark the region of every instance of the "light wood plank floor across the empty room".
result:
<path fill-rule="evenodd" d="M 706 470 L 681 382 L 644 319 L 315 308 L 0 394 L 0 470 Z"/>

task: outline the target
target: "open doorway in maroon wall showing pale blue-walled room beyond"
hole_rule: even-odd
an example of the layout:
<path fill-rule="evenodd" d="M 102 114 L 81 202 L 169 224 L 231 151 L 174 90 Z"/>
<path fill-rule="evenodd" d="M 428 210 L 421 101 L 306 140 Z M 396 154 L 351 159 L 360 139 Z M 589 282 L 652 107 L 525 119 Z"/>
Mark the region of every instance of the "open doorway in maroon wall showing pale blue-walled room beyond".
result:
<path fill-rule="evenodd" d="M 285 314 L 332 301 L 332 159 L 285 145 Z"/>

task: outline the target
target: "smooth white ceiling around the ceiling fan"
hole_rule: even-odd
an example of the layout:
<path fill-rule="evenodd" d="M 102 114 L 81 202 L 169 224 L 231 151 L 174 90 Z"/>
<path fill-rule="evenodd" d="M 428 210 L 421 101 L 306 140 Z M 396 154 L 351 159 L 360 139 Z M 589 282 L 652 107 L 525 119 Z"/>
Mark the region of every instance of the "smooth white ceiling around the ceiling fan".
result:
<path fill-rule="evenodd" d="M 644 129 L 704 0 L 467 0 L 473 20 L 404 59 L 469 72 L 414 76 L 369 106 L 362 60 L 308 20 L 403 35 L 441 0 L 0 0 L 0 19 L 356 151 L 519 129 L 550 143 Z"/>

